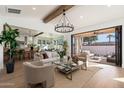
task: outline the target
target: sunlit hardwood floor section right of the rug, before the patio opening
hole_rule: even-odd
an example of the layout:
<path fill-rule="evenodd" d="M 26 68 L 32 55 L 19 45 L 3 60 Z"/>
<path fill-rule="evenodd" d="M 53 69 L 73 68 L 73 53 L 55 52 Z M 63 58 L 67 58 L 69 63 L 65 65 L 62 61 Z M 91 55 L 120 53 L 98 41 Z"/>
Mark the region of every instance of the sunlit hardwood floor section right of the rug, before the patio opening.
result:
<path fill-rule="evenodd" d="M 98 71 L 83 87 L 87 88 L 123 88 L 124 87 L 124 68 L 94 64 L 104 69 Z"/>

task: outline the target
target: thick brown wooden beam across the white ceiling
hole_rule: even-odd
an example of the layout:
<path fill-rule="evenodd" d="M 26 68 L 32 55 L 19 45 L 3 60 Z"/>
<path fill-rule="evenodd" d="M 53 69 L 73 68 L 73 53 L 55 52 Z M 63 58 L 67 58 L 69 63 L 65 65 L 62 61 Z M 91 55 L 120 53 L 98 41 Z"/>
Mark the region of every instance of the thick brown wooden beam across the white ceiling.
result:
<path fill-rule="evenodd" d="M 72 8 L 73 6 L 74 5 L 61 5 L 61 6 L 59 6 L 57 9 L 55 9 L 50 14 L 45 16 L 44 19 L 43 19 L 43 22 L 48 23 L 49 21 L 53 20 L 57 16 L 61 15 L 63 13 L 63 9 L 65 9 L 65 11 L 67 11 L 70 8 Z"/>

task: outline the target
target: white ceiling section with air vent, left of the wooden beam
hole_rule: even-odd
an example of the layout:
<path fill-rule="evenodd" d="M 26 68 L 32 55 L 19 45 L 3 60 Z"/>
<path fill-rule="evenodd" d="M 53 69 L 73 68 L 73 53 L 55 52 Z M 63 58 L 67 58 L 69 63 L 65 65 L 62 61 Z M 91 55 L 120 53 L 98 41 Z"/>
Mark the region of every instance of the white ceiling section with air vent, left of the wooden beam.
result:
<path fill-rule="evenodd" d="M 57 5 L 0 5 L 0 15 L 13 17 L 28 17 L 42 19 L 49 12 L 53 11 Z M 20 9 L 21 14 L 7 13 L 7 8 Z M 32 8 L 35 8 L 33 10 Z"/>

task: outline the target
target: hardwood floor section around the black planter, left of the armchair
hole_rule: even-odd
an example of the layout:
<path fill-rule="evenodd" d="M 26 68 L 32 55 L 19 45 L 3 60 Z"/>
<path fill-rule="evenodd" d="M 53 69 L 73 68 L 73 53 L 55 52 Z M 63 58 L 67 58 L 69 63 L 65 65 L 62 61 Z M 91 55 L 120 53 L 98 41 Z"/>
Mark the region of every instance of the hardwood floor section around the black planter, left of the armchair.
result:
<path fill-rule="evenodd" d="M 5 67 L 4 67 L 5 68 Z M 22 62 L 16 62 L 14 73 L 6 74 L 6 70 L 4 69 L 0 73 L 0 87 L 28 87 L 26 86 L 23 78 L 24 78 L 24 71 L 23 71 Z"/>

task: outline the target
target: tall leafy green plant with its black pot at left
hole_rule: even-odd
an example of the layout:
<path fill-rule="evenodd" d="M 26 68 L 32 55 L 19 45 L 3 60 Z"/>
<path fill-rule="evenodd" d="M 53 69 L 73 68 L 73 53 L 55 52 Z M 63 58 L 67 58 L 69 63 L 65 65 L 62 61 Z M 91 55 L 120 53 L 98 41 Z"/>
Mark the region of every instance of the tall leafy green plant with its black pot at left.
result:
<path fill-rule="evenodd" d="M 7 73 L 14 71 L 14 53 L 18 45 L 16 38 L 19 36 L 18 29 L 12 29 L 7 23 L 3 25 L 0 44 L 8 45 L 9 61 L 6 64 Z"/>

